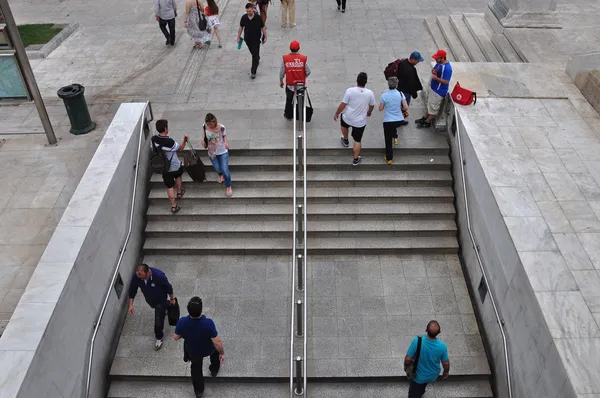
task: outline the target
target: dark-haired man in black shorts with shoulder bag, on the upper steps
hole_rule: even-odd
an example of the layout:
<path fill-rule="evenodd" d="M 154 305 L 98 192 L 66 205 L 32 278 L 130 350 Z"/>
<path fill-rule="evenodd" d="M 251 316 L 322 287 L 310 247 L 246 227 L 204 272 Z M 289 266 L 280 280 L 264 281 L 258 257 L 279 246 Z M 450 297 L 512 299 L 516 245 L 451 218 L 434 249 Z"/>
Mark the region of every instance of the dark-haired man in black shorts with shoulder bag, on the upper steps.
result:
<path fill-rule="evenodd" d="M 169 122 L 165 119 L 156 121 L 156 131 L 158 131 L 158 135 L 152 137 L 152 149 L 164 159 L 163 181 L 167 186 L 167 195 L 171 201 L 171 213 L 177 213 L 181 210 L 177 205 L 177 199 L 181 199 L 185 194 L 185 190 L 181 187 L 183 167 L 177 153 L 183 151 L 189 136 L 184 135 L 181 144 L 170 138 L 168 136 Z M 177 193 L 174 190 L 175 186 L 177 186 Z"/>

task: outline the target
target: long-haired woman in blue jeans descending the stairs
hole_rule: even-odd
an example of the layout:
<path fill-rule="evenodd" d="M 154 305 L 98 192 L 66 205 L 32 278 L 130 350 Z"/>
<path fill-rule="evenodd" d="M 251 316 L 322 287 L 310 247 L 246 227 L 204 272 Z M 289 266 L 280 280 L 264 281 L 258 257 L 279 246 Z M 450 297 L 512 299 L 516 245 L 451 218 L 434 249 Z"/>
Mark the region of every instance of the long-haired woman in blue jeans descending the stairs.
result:
<path fill-rule="evenodd" d="M 212 113 L 204 118 L 202 146 L 208 149 L 208 158 L 219 175 L 217 182 L 225 181 L 225 194 L 231 196 L 231 174 L 229 173 L 229 145 L 225 126 L 217 121 Z"/>

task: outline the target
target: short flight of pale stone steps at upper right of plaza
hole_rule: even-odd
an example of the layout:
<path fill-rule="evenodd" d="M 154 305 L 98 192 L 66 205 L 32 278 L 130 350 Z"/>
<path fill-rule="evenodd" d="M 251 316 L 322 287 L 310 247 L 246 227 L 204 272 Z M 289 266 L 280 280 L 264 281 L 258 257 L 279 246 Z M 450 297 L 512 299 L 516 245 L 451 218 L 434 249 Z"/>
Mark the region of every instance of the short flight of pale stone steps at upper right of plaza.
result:
<path fill-rule="evenodd" d="M 425 24 L 437 47 L 446 49 L 452 61 L 527 62 L 491 13 L 438 16 L 426 18 Z"/>

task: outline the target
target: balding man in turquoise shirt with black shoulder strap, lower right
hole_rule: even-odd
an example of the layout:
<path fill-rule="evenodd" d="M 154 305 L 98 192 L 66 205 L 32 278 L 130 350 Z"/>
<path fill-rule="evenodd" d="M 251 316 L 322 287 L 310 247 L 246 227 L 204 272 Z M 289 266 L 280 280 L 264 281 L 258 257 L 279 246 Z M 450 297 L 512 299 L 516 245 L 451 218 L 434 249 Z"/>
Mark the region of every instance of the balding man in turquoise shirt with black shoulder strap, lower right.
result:
<path fill-rule="evenodd" d="M 421 337 L 421 352 L 417 363 L 416 376 L 410 381 L 408 398 L 421 398 L 425 394 L 428 383 L 433 383 L 440 375 L 440 362 L 444 367 L 442 379 L 448 377 L 450 372 L 450 361 L 448 360 L 448 347 L 446 343 L 437 339 L 440 334 L 440 324 L 430 321 L 425 329 L 427 334 Z M 406 369 L 417 355 L 419 338 L 415 337 L 408 347 L 406 358 L 404 358 L 404 369 Z"/>

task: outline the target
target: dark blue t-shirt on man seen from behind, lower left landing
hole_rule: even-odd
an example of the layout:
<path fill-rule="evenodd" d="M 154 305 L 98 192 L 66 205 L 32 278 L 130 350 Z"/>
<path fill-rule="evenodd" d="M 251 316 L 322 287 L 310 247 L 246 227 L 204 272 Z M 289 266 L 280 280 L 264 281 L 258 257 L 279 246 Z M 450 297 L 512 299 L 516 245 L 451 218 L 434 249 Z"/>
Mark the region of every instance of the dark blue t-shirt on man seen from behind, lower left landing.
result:
<path fill-rule="evenodd" d="M 175 326 L 175 334 L 185 339 L 184 346 L 190 358 L 207 357 L 215 351 L 212 339 L 218 336 L 217 327 L 212 319 L 202 315 L 180 318 Z"/>

